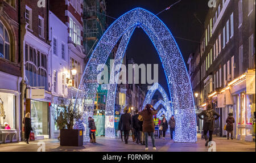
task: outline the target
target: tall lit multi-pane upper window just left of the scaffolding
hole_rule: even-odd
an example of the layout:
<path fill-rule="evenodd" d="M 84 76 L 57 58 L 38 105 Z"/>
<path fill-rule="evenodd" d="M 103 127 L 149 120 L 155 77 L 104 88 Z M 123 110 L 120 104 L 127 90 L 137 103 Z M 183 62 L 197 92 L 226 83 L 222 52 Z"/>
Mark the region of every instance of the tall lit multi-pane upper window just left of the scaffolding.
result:
<path fill-rule="evenodd" d="M 69 36 L 76 45 L 81 45 L 80 28 L 71 18 L 69 18 Z"/>

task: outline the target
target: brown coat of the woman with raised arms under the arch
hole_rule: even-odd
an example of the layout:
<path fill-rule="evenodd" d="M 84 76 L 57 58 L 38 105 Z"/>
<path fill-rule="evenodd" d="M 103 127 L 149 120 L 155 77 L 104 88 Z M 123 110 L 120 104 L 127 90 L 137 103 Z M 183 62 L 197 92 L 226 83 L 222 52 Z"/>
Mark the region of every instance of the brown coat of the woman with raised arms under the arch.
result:
<path fill-rule="evenodd" d="M 158 113 L 158 111 L 154 110 L 150 110 L 150 113 L 148 113 L 147 110 L 143 110 L 139 113 L 139 115 L 142 115 L 143 117 L 143 132 L 154 132 L 155 131 L 155 124 L 153 121 L 153 115 L 155 115 L 156 113 Z"/>

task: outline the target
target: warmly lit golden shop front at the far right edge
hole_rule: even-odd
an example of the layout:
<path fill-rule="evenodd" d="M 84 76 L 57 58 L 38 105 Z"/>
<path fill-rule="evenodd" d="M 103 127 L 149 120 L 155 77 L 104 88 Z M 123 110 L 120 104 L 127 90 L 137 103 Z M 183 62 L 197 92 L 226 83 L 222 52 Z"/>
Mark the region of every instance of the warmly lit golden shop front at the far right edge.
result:
<path fill-rule="evenodd" d="M 246 74 L 241 75 L 234 82 L 230 83 L 230 89 L 234 99 L 234 117 L 236 118 L 235 135 L 238 140 L 253 141 L 255 70 L 248 70 Z"/>

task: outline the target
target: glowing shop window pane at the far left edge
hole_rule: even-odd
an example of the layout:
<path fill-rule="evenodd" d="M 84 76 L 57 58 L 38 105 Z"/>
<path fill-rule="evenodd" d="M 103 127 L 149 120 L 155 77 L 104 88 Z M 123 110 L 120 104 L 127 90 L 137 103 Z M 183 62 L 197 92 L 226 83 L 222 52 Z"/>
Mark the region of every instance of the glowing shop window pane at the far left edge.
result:
<path fill-rule="evenodd" d="M 15 129 L 15 96 L 11 93 L 0 93 L 0 126 L 5 129 Z"/>

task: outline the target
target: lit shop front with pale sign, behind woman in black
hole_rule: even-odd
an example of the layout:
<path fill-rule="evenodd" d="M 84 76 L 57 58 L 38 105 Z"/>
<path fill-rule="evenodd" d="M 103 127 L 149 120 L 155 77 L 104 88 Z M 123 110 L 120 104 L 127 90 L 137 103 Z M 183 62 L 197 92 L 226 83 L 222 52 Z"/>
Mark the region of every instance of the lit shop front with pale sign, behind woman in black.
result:
<path fill-rule="evenodd" d="M 27 90 L 28 94 L 31 89 Z M 31 126 L 35 140 L 49 139 L 50 136 L 49 105 L 51 105 L 51 95 L 45 93 L 44 97 L 26 99 L 26 113 L 31 115 Z"/>

